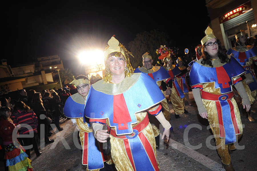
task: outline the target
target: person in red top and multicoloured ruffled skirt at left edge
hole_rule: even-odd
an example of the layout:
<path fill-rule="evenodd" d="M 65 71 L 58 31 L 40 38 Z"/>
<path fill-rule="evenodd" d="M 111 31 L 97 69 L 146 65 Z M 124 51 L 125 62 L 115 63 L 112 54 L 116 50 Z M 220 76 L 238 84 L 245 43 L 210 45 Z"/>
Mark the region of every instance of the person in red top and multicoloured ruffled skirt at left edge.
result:
<path fill-rule="evenodd" d="M 16 127 L 10 118 L 11 109 L 9 107 L 0 108 L 0 137 L 3 139 L 5 147 L 6 166 L 9 171 L 28 170 L 32 171 L 31 160 L 24 152 L 22 146 L 15 146 L 12 138 L 13 130 Z M 20 127 L 20 125 L 17 125 Z M 15 144 L 19 144 L 18 140 Z"/>

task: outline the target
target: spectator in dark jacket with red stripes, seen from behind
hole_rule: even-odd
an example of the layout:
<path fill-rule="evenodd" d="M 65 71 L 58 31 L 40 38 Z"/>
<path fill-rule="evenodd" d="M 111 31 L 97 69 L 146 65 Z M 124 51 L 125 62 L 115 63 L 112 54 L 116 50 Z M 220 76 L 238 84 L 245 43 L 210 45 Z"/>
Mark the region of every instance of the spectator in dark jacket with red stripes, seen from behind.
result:
<path fill-rule="evenodd" d="M 28 124 L 29 126 L 31 126 L 32 129 L 22 127 L 19 130 L 19 134 L 32 134 L 32 132 L 34 133 L 34 136 L 31 138 L 21 138 L 21 139 L 24 143 L 24 146 L 29 146 L 33 144 L 33 148 L 35 150 L 36 155 L 40 156 L 41 152 L 39 152 L 38 150 L 37 140 L 35 138 L 35 134 L 37 134 L 37 125 L 38 125 L 37 115 L 23 101 L 17 101 L 15 103 L 13 114 L 11 115 L 11 119 L 13 120 L 13 123 L 15 125 Z M 26 153 L 30 158 L 30 149 L 27 149 Z"/>

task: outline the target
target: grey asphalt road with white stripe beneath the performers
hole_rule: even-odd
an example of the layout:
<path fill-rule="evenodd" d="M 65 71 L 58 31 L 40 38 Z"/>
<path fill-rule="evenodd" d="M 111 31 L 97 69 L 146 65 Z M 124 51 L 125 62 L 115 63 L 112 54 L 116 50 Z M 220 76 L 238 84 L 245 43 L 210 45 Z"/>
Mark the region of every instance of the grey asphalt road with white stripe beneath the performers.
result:
<path fill-rule="evenodd" d="M 157 150 L 160 170 L 224 170 L 216 149 L 212 149 L 215 142 L 211 137 L 211 130 L 208 129 L 208 121 L 199 116 L 192 92 L 189 93 L 189 97 L 193 101 L 193 106 L 186 105 L 189 113 L 178 119 L 174 117 L 174 110 L 169 104 L 172 114 L 170 123 L 174 133 L 170 134 L 169 143 L 160 143 L 160 149 Z M 255 102 L 252 107 L 257 110 L 257 103 Z M 257 119 L 256 115 L 254 114 L 254 118 Z M 237 145 L 238 149 L 231 154 L 231 161 L 235 170 L 256 170 L 257 123 L 249 122 L 244 116 L 241 116 L 241 119 L 244 124 L 243 136 Z M 82 150 L 77 148 L 80 145 L 77 141 L 77 132 L 74 131 L 75 127 L 71 120 L 60 120 L 60 124 L 64 130 L 50 137 L 55 139 L 55 142 L 41 149 L 42 155 L 39 157 L 32 152 L 34 171 L 86 170 L 81 161 Z"/>

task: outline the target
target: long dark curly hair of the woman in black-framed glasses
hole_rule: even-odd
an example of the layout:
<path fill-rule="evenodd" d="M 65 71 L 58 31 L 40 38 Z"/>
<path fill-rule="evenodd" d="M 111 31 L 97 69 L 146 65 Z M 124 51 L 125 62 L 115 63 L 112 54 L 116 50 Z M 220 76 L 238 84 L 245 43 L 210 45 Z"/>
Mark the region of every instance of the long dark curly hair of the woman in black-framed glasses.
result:
<path fill-rule="evenodd" d="M 218 39 L 217 39 L 217 42 L 219 43 L 219 45 L 218 45 L 218 58 L 220 59 L 220 62 L 221 63 L 230 62 L 230 59 L 227 57 L 226 52 L 222 50 L 222 47 L 220 45 L 220 41 Z M 207 65 L 213 67 L 212 58 L 206 51 L 204 51 L 204 47 L 205 47 L 205 43 L 202 46 L 202 61 L 201 61 L 201 64 L 203 64 L 203 65 L 207 64 Z"/>

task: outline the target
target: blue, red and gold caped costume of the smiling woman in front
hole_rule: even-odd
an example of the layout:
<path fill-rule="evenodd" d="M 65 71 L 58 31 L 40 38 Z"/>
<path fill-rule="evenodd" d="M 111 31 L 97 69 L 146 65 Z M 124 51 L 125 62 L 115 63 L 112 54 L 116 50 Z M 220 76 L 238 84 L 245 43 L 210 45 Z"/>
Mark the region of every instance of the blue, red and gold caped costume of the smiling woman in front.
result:
<path fill-rule="evenodd" d="M 156 82 L 142 73 L 125 77 L 118 84 L 100 80 L 91 86 L 84 113 L 90 122 L 111 128 L 111 157 L 118 171 L 159 170 L 146 110 L 163 100 Z M 155 116 L 161 110 L 158 105 L 148 112 Z"/>

